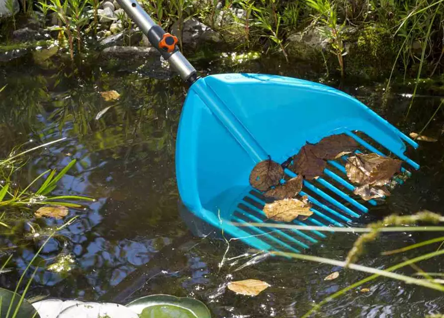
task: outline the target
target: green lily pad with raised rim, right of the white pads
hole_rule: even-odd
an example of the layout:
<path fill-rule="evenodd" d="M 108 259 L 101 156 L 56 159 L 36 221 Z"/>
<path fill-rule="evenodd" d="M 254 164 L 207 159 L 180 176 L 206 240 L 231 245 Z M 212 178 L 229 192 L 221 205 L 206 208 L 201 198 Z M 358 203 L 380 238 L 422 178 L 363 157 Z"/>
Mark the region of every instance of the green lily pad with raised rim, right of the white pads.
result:
<path fill-rule="evenodd" d="M 208 308 L 200 301 L 171 295 L 151 295 L 126 305 L 140 318 L 211 318 Z"/>

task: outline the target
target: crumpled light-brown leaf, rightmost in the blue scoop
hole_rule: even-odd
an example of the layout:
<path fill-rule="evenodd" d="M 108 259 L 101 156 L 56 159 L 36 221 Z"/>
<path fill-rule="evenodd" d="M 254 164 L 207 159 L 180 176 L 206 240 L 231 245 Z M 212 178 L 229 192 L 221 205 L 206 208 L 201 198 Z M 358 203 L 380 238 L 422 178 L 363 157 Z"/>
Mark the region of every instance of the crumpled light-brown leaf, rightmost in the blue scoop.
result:
<path fill-rule="evenodd" d="M 347 158 L 346 170 L 350 181 L 358 184 L 384 185 L 401 169 L 402 161 L 377 154 L 356 154 Z"/>

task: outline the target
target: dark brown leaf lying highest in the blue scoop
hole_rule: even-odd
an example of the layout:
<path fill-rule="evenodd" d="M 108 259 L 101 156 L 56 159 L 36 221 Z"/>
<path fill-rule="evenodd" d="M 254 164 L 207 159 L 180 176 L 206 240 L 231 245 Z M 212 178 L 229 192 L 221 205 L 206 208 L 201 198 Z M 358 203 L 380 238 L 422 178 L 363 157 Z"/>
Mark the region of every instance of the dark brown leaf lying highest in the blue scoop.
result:
<path fill-rule="evenodd" d="M 359 144 L 346 134 L 333 135 L 321 139 L 314 145 L 313 154 L 319 159 L 334 160 L 346 154 L 352 153 Z"/>

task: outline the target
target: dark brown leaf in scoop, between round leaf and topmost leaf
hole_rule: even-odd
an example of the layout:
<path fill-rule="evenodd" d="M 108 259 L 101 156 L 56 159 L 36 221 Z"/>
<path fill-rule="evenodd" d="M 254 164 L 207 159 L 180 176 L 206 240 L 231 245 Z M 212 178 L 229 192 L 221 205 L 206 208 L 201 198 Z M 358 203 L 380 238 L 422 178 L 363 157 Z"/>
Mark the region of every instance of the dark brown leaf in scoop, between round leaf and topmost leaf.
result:
<path fill-rule="evenodd" d="M 308 180 L 321 175 L 327 166 L 327 162 L 316 157 L 313 153 L 315 147 L 313 145 L 302 147 L 297 155 L 293 156 L 293 163 L 289 165 L 289 169 Z"/>

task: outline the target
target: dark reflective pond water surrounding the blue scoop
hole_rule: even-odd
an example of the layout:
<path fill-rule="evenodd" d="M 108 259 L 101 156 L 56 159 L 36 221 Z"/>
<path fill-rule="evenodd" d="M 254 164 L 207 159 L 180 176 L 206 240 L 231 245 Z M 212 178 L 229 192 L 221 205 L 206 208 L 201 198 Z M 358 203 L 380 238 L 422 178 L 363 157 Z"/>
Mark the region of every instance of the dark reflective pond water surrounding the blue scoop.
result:
<path fill-rule="evenodd" d="M 199 299 L 214 317 L 301 317 L 314 303 L 367 276 L 327 264 L 277 257 L 238 269 L 251 260 L 247 246 L 230 242 L 224 258 L 226 242 L 193 236 L 179 213 L 174 154 L 186 92 L 180 80 L 166 78 L 165 74 L 153 77 L 155 72 L 146 68 L 106 68 L 92 58 L 73 71 L 63 61 L 37 64 L 25 56 L 0 69 L 0 87 L 7 83 L 0 98 L 1 156 L 7 156 L 17 145 L 25 143 L 30 148 L 67 137 L 33 153 L 16 181 L 27 184 L 46 169 L 61 169 L 77 159 L 55 193 L 82 194 L 97 200 L 85 209 L 70 209 L 70 216 L 79 217 L 77 222 L 43 249 L 45 258 L 60 252 L 71 254 L 71 270 L 63 274 L 39 270 L 29 297 L 127 303 L 139 296 L 162 293 Z M 319 70 L 298 63 L 289 65 L 275 57 L 235 64 L 217 56 L 196 64 L 207 74 L 249 71 L 322 81 Z M 352 94 L 407 134 L 421 130 L 441 101 L 441 83 L 426 82 L 405 118 L 411 102 L 406 94 L 413 91 L 412 83 L 396 84 L 386 95 L 385 82 L 348 79 L 326 83 Z M 120 99 L 105 102 L 98 92 L 112 89 L 121 94 Z M 96 120 L 96 115 L 108 106 L 112 107 Z M 443 118 L 440 110 L 425 134 L 439 136 Z M 298 120 L 304 119 L 295 119 L 295 127 Z M 444 211 L 443 140 L 422 142 L 418 151 L 409 154 L 421 164 L 421 170 L 397 188 L 385 204 L 371 209 L 362 222 L 390 213 Z M 63 224 L 53 219 L 38 222 L 42 228 L 44 223 Z M 382 235 L 368 244 L 359 262 L 386 268 L 405 257 L 436 250 L 438 245 L 393 256 L 381 256 L 380 252 L 438 236 Z M 354 234 L 330 235 L 308 253 L 344 260 L 356 238 Z M 1 287 L 15 287 L 41 242 L 35 239 L 26 246 L 10 242 L 18 246 L 13 250 L 13 260 L 20 270 L 1 274 Z M 2 257 L 4 260 L 6 254 Z M 419 266 L 428 272 L 444 270 L 440 259 L 423 261 Z M 340 272 L 339 278 L 324 281 L 334 271 Z M 407 267 L 400 272 L 411 275 L 416 269 Z M 227 282 L 241 279 L 260 279 L 271 287 L 257 297 L 238 296 L 225 288 Z M 370 291 L 348 292 L 325 305 L 319 317 L 424 317 L 444 313 L 444 296 L 438 291 L 384 278 L 362 288 Z"/>

